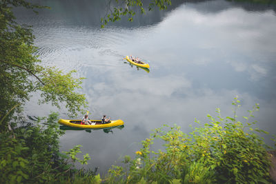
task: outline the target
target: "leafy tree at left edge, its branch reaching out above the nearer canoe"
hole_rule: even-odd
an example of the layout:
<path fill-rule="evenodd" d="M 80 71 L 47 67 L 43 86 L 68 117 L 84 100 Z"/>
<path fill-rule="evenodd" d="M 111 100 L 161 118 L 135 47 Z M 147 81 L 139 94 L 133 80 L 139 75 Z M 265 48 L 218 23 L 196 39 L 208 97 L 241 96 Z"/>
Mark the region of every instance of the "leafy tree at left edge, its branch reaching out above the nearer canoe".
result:
<path fill-rule="evenodd" d="M 76 71 L 63 74 L 55 67 L 42 66 L 34 55 L 37 48 L 31 27 L 19 25 L 12 13 L 12 8 L 20 6 L 34 12 L 45 8 L 25 0 L 0 1 L 0 131 L 6 131 L 11 115 L 21 112 L 31 92 L 40 92 L 39 103 L 50 102 L 58 108 L 60 102 L 66 103 L 71 115 L 86 106 L 84 95 L 76 92 L 83 79 L 72 76 Z"/>

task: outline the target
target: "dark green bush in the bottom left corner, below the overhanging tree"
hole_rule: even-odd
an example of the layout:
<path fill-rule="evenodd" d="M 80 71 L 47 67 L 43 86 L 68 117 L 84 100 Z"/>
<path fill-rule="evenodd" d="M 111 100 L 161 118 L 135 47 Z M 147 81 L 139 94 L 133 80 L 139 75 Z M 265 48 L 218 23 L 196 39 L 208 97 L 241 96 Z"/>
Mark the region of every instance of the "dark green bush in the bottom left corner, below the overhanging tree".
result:
<path fill-rule="evenodd" d="M 77 145 L 66 154 L 59 152 L 58 114 L 38 119 L 34 125 L 17 127 L 14 134 L 0 134 L 0 183 L 100 183 L 99 175 L 91 170 L 77 170 L 72 163 L 87 164 L 76 157 Z"/>

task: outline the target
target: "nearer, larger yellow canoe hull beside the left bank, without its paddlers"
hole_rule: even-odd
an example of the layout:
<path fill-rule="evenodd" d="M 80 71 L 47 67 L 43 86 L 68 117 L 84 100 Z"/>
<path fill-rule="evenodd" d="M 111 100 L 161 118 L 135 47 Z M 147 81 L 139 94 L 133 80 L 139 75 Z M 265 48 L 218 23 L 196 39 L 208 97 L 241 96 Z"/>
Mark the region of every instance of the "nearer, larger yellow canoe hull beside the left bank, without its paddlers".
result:
<path fill-rule="evenodd" d="M 87 129 L 97 129 L 97 128 L 104 128 L 104 127 L 115 127 L 119 125 L 124 125 L 124 121 L 121 119 L 110 121 L 110 123 L 101 123 L 101 120 L 92 120 L 90 119 L 92 123 L 95 123 L 95 125 L 81 125 L 81 120 L 70 120 L 70 119 L 59 119 L 58 123 L 61 125 L 66 125 L 69 127 L 80 127 L 80 128 L 87 128 Z"/>

